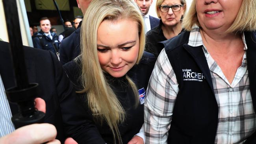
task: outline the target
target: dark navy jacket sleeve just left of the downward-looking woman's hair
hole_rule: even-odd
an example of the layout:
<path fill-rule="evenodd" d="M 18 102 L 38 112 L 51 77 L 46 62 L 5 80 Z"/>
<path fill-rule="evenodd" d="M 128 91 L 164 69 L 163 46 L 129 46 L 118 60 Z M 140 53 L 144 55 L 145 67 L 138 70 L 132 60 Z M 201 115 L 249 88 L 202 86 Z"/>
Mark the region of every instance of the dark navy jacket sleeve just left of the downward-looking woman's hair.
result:
<path fill-rule="evenodd" d="M 80 30 L 81 28 L 78 28 L 69 37 L 61 41 L 59 46 L 59 61 L 62 65 L 72 61 L 80 54 Z"/>

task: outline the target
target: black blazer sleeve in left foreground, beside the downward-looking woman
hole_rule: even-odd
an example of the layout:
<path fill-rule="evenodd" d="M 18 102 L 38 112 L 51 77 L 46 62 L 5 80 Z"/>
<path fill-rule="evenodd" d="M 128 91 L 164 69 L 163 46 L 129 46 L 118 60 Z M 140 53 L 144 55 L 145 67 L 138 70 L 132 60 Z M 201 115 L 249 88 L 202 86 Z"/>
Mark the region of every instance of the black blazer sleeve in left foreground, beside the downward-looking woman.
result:
<path fill-rule="evenodd" d="M 74 138 L 79 144 L 92 142 L 104 144 L 105 142 L 100 137 L 97 128 L 90 120 L 87 120 L 83 107 L 78 104 L 78 98 L 76 97 L 73 86 L 67 75 L 63 72 L 57 57 L 52 52 L 50 53 L 54 63 L 56 89 L 59 96 L 66 136 Z"/>

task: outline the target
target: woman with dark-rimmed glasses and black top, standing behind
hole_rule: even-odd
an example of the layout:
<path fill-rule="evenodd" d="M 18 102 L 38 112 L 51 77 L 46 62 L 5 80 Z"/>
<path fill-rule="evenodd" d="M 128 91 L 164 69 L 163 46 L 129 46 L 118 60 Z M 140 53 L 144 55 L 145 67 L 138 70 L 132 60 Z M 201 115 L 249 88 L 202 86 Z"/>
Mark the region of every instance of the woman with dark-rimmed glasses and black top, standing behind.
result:
<path fill-rule="evenodd" d="M 186 11 L 186 0 L 157 0 L 156 12 L 160 23 L 146 33 L 145 50 L 156 57 L 163 49 L 161 41 L 171 39 L 182 31 L 181 20 Z"/>

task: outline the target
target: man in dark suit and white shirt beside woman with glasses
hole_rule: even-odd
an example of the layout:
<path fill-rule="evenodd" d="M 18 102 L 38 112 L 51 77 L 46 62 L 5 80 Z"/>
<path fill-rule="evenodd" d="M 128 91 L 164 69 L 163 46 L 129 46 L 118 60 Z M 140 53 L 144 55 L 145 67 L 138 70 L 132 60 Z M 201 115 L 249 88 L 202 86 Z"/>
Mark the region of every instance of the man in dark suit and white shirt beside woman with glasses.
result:
<path fill-rule="evenodd" d="M 141 13 L 143 13 L 143 19 L 145 22 L 145 33 L 147 33 L 152 28 L 155 28 L 159 24 L 159 19 L 152 17 L 148 14 L 149 8 L 153 2 L 153 0 L 135 0 L 138 6 L 141 9 Z"/>

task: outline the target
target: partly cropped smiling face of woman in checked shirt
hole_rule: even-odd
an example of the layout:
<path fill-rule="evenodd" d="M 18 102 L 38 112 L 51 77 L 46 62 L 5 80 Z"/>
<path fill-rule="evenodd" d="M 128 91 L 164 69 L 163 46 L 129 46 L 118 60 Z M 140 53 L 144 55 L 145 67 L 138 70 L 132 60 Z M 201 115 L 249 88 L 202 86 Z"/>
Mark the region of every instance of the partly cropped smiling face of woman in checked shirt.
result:
<path fill-rule="evenodd" d="M 203 29 L 227 30 L 233 24 L 243 0 L 196 0 L 197 18 Z"/>

